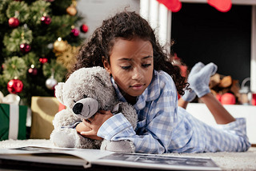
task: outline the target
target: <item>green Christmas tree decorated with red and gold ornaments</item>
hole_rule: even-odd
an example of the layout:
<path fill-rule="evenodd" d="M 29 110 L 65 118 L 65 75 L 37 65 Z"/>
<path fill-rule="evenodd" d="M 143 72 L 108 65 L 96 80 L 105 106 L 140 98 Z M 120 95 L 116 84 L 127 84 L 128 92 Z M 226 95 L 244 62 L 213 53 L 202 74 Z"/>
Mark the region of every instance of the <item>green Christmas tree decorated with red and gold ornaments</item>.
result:
<path fill-rule="evenodd" d="M 29 106 L 32 96 L 53 97 L 84 41 L 81 21 L 75 0 L 1 0 L 0 91 Z"/>

